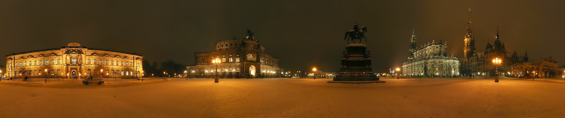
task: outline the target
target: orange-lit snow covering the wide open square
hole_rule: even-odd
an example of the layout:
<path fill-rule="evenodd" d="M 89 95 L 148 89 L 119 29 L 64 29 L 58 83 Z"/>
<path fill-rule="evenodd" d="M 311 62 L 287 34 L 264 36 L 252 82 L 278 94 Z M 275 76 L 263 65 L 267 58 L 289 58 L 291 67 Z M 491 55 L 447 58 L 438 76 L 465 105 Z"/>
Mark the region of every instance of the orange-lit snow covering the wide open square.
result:
<path fill-rule="evenodd" d="M 564 117 L 565 81 L 493 78 L 0 81 L 0 117 Z"/>

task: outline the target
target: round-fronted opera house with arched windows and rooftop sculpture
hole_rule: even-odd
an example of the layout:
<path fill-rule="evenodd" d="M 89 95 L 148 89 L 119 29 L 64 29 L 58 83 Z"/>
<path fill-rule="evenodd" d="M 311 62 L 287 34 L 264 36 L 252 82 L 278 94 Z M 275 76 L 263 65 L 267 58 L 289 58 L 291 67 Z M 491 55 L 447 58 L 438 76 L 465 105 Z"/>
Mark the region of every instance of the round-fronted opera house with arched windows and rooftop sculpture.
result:
<path fill-rule="evenodd" d="M 264 52 L 259 40 L 253 40 L 253 34 L 248 29 L 244 39 L 233 38 L 216 42 L 214 51 L 196 52 L 194 65 L 186 66 L 187 75 L 195 77 L 214 77 L 216 65 L 212 60 L 218 58 L 219 77 L 221 78 L 265 78 L 279 77 L 282 68 L 279 58 Z"/>

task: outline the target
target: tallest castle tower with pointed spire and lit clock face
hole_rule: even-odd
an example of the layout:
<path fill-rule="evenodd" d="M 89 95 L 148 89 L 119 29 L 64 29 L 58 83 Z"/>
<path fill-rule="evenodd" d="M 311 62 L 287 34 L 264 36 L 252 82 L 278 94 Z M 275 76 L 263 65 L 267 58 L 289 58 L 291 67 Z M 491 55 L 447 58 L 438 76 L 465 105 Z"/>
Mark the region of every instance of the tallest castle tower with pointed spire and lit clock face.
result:
<path fill-rule="evenodd" d="M 465 47 L 463 47 L 463 62 L 469 60 L 475 52 L 475 36 L 473 35 L 473 27 L 471 26 L 471 8 L 469 8 L 469 23 L 467 24 L 467 34 L 465 35 Z"/>

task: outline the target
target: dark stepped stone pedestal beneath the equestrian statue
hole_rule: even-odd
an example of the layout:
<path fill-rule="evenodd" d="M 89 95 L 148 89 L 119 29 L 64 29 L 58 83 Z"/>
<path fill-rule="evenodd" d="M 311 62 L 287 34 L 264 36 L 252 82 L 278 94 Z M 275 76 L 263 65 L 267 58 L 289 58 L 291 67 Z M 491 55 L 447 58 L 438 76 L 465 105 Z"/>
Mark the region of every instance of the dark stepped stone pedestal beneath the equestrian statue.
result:
<path fill-rule="evenodd" d="M 370 50 L 365 44 L 354 43 L 345 47 L 341 56 L 340 72 L 328 83 L 384 83 L 373 73 Z"/>

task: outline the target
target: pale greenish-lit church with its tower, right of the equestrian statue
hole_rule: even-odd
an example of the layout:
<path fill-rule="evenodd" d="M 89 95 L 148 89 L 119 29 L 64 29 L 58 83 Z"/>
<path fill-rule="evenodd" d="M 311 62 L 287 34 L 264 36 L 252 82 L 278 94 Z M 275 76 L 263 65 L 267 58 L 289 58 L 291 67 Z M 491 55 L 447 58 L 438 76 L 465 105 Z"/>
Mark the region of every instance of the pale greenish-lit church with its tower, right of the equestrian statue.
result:
<path fill-rule="evenodd" d="M 402 63 L 402 74 L 408 77 L 458 76 L 459 58 L 447 56 L 447 44 L 434 42 L 416 47 L 412 31 L 410 56 Z"/>

